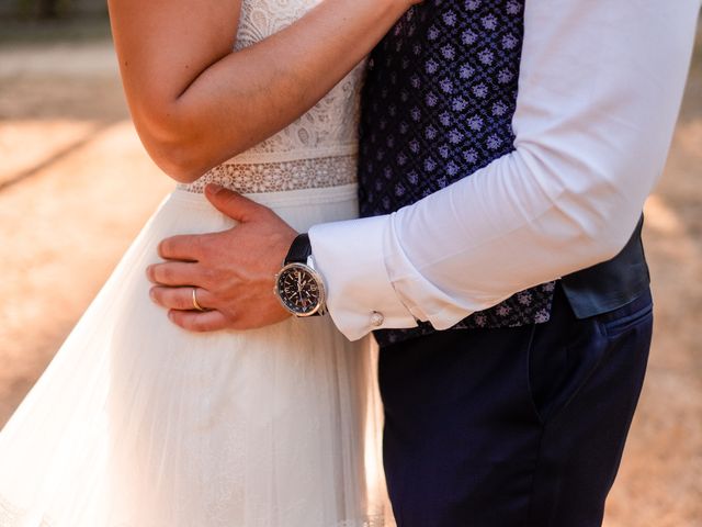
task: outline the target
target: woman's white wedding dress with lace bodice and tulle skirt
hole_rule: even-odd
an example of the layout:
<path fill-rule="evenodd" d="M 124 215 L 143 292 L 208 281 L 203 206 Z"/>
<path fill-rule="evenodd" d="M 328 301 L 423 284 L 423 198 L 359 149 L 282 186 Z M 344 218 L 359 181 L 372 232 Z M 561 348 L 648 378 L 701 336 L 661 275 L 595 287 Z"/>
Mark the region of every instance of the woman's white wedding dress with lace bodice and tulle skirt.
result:
<path fill-rule="evenodd" d="M 237 47 L 318 1 L 245 0 Z M 355 216 L 362 76 L 165 200 L 0 433 L 0 527 L 384 524 L 369 341 L 328 316 L 188 333 L 145 278 L 163 237 L 233 225 L 207 181 L 298 231 Z"/>

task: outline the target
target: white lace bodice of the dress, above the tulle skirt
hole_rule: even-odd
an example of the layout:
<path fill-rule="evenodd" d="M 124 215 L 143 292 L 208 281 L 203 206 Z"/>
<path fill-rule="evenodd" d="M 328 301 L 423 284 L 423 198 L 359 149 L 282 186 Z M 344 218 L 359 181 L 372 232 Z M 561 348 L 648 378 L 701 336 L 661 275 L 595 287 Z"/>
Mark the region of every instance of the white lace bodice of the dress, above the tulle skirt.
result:
<path fill-rule="evenodd" d="M 242 49 L 302 18 L 320 0 L 244 0 L 235 49 Z M 290 126 L 179 188 L 202 192 L 217 182 L 240 192 L 333 187 L 355 181 L 359 65 Z"/>

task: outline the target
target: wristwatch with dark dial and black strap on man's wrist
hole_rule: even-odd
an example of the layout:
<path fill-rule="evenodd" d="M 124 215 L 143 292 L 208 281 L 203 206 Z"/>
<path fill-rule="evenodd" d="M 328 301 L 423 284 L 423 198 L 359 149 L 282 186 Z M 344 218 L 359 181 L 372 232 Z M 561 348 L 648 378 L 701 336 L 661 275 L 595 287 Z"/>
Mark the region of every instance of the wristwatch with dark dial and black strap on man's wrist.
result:
<path fill-rule="evenodd" d="M 283 268 L 275 274 L 275 295 L 295 316 L 324 315 L 327 293 L 315 270 L 309 236 L 298 235 L 287 251 Z"/>

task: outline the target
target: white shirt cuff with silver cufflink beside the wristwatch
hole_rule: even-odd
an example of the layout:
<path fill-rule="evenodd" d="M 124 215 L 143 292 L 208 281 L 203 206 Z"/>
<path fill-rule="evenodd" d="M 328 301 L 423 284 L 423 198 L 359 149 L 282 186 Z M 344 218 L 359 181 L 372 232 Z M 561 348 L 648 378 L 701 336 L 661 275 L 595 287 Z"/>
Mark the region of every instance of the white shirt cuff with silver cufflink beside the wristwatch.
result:
<path fill-rule="evenodd" d="M 309 229 L 315 268 L 327 287 L 327 310 L 350 340 L 384 328 L 416 327 L 385 267 L 389 216 L 325 223 Z"/>

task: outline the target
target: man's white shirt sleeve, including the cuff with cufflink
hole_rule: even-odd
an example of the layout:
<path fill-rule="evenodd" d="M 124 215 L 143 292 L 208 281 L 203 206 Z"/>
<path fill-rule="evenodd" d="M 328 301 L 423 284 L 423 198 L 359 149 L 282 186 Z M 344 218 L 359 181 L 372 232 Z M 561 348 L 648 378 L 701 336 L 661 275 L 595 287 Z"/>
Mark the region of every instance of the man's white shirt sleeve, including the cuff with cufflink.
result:
<path fill-rule="evenodd" d="M 339 329 L 445 329 L 615 256 L 663 171 L 699 9 L 525 2 L 516 149 L 397 213 L 310 229 Z"/>

